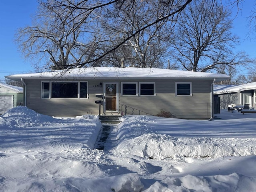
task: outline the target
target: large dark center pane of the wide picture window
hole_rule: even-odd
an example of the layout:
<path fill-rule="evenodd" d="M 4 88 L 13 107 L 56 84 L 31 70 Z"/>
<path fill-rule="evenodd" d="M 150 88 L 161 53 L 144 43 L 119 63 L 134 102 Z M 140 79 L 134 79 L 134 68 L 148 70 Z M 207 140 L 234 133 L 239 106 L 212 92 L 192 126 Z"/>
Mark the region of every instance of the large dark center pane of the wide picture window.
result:
<path fill-rule="evenodd" d="M 52 98 L 77 98 L 77 82 L 52 82 Z"/>

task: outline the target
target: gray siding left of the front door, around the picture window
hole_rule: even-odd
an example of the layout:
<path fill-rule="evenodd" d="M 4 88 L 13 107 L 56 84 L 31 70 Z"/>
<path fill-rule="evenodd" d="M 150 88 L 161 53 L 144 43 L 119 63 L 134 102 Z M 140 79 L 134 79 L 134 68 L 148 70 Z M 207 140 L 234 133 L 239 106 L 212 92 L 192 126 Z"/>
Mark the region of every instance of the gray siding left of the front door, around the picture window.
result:
<path fill-rule="evenodd" d="M 75 117 L 84 114 L 98 114 L 99 105 L 95 104 L 95 94 L 102 94 L 102 87 L 95 85 L 102 81 L 92 80 L 88 82 L 88 99 L 41 99 L 41 81 L 26 80 L 27 107 L 38 113 L 50 116 Z M 82 81 L 82 80 L 81 80 Z"/>

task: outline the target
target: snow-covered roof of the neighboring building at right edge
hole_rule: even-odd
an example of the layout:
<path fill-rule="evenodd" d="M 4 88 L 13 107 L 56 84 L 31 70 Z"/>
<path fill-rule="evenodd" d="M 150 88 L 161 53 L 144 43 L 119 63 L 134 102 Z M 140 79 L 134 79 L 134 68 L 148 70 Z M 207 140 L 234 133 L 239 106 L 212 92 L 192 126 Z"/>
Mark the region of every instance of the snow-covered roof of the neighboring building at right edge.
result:
<path fill-rule="evenodd" d="M 245 90 L 256 90 L 256 82 L 237 85 L 237 86 L 229 86 L 228 88 L 214 90 L 214 94 L 226 94 L 226 93 L 236 93 Z"/>

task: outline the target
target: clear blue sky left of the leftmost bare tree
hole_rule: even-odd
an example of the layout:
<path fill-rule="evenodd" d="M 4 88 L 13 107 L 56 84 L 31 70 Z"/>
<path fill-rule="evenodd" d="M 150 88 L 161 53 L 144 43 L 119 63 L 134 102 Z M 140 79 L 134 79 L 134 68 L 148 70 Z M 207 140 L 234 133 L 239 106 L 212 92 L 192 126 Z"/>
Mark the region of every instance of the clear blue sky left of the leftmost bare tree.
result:
<path fill-rule="evenodd" d="M 9 74 L 34 70 L 25 62 L 14 43 L 14 34 L 20 27 L 31 24 L 36 12 L 36 0 L 10 0 L 1 2 L 0 11 L 0 80 Z"/>

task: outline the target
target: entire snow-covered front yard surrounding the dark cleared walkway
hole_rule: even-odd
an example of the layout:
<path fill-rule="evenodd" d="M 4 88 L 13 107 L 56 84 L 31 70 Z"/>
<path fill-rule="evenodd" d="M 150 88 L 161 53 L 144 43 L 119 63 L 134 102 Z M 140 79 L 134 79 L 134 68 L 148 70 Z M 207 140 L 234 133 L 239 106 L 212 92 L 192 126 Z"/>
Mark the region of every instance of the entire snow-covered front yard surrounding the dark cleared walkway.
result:
<path fill-rule="evenodd" d="M 0 191 L 255 192 L 256 114 L 124 116 L 104 151 L 98 116 L 0 116 Z"/>

